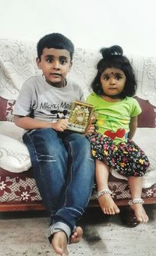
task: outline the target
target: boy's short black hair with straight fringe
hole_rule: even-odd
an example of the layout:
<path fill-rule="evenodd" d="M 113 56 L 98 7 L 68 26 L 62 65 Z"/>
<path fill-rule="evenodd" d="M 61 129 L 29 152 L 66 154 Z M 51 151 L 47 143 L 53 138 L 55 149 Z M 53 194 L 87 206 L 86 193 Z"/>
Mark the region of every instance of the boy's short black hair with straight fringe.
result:
<path fill-rule="evenodd" d="M 65 49 L 69 51 L 71 61 L 73 59 L 73 42 L 70 41 L 69 38 L 65 37 L 63 34 L 52 33 L 41 37 L 41 39 L 37 43 L 37 57 L 40 60 L 44 48 Z"/>

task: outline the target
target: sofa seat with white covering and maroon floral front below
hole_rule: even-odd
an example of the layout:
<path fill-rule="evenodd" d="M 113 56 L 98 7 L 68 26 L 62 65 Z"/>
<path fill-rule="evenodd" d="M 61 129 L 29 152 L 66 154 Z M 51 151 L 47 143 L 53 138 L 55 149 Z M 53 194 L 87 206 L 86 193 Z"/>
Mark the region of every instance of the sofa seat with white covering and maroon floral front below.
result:
<path fill-rule="evenodd" d="M 9 136 L 8 130 L 10 130 Z M 33 171 L 30 168 L 30 156 L 27 147 L 23 144 L 24 130 L 11 122 L 0 122 L 0 211 L 9 209 L 9 204 L 17 210 L 42 208 L 41 196 L 37 190 Z M 150 134 L 150 136 L 149 136 Z M 156 201 L 156 128 L 138 128 L 134 141 L 146 151 L 151 162 L 147 174 L 144 176 L 142 197 L 147 203 Z M 151 148 L 153 150 L 151 151 Z M 6 170 L 7 169 L 7 170 Z M 129 185 L 126 177 L 119 175 L 112 169 L 109 177 L 109 188 L 117 204 L 126 204 L 130 198 Z M 94 185 L 90 204 L 97 204 L 97 190 Z M 30 204 L 30 206 L 29 206 Z M 36 205 L 36 206 L 35 206 Z"/>

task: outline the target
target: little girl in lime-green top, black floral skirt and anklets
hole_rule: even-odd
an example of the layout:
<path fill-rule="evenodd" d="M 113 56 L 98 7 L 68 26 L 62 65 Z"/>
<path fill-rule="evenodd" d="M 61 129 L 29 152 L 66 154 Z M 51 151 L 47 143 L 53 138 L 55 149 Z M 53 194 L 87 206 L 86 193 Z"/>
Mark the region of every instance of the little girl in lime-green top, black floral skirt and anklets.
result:
<path fill-rule="evenodd" d="M 108 175 L 113 168 L 127 176 L 132 197 L 129 205 L 139 222 L 147 222 L 141 192 L 149 162 L 144 151 L 132 140 L 141 112 L 133 98 L 137 90 L 135 75 L 118 45 L 102 48 L 101 54 L 103 59 L 97 63 L 97 76 L 91 84 L 94 92 L 87 98 L 97 115 L 98 133 L 88 137 L 96 159 L 98 201 L 105 214 L 119 213 L 111 197 L 112 191 L 108 189 Z"/>

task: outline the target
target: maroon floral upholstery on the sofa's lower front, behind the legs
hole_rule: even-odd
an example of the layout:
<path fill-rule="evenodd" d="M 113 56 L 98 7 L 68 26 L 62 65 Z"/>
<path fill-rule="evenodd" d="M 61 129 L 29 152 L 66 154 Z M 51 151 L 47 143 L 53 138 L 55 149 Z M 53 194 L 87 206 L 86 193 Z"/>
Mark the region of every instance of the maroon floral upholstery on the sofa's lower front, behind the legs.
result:
<path fill-rule="evenodd" d="M 112 190 L 112 197 L 119 202 L 130 198 L 129 185 L 126 180 L 119 180 L 114 176 L 109 178 L 109 189 Z M 156 184 L 143 189 L 142 197 L 145 200 L 155 200 Z M 94 186 L 91 200 L 96 199 L 96 186 Z M 0 168 L 0 211 L 3 204 L 29 204 L 42 203 L 41 196 L 37 190 L 37 185 L 31 170 L 16 173 L 7 172 Z"/>

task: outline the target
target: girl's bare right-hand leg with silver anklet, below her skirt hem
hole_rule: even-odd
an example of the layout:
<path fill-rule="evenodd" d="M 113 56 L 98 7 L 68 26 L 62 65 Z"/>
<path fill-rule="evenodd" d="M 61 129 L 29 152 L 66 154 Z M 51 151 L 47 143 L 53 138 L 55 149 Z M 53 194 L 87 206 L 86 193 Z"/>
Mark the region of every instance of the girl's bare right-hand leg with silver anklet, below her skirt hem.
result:
<path fill-rule="evenodd" d="M 132 197 L 132 202 L 133 202 L 133 200 L 141 197 L 143 177 L 142 176 L 129 176 L 128 182 L 129 182 L 129 187 L 130 187 L 130 192 L 131 192 L 131 197 Z M 143 204 L 133 203 L 130 205 L 130 207 L 135 212 L 135 215 L 139 222 L 147 222 L 148 221 L 148 216 L 144 210 Z"/>

